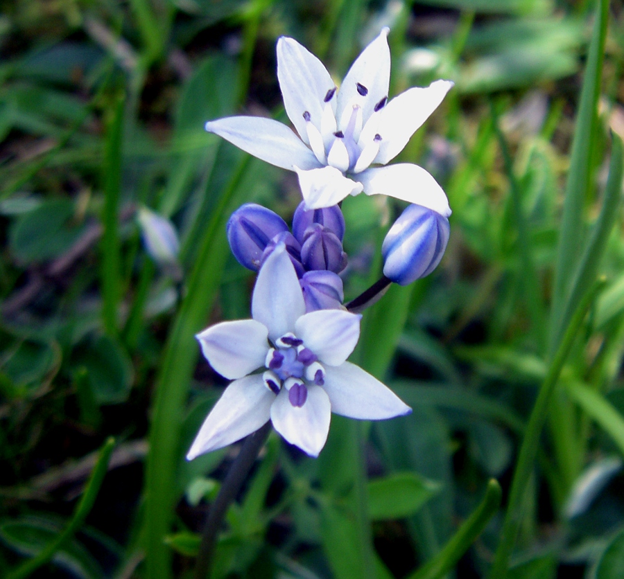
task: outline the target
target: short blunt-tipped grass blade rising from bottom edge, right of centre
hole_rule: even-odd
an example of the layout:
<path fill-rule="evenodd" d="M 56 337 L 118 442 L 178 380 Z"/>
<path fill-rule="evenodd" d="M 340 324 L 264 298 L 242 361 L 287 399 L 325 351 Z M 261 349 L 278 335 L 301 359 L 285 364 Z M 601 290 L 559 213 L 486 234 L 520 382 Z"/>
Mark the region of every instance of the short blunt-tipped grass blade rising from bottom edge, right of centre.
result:
<path fill-rule="evenodd" d="M 409 576 L 409 579 L 437 579 L 444 573 L 451 571 L 453 565 L 474 543 L 474 540 L 483 532 L 499 506 L 501 506 L 501 486 L 494 479 L 487 483 L 485 497 L 473 513 L 460 526 L 457 533 L 444 545 L 440 553 Z"/>

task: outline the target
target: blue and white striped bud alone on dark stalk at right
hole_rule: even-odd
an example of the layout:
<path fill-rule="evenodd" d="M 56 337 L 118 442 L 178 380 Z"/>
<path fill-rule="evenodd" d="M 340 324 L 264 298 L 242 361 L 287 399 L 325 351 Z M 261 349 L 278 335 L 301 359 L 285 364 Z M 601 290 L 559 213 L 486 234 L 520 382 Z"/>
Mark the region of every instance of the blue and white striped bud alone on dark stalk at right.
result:
<path fill-rule="evenodd" d="M 440 213 L 408 206 L 383 240 L 383 275 L 399 285 L 428 276 L 440 263 L 450 233 L 449 220 Z"/>

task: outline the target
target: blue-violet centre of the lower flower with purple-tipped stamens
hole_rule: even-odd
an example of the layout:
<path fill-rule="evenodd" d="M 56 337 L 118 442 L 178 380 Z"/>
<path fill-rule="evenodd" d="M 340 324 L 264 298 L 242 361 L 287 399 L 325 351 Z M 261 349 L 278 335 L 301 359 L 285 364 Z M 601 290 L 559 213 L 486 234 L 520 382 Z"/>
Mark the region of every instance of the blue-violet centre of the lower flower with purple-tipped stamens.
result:
<path fill-rule="evenodd" d="M 324 368 L 312 350 L 293 334 L 277 339 L 275 346 L 266 355 L 265 366 L 268 369 L 263 374 L 264 384 L 275 394 L 286 388 L 288 400 L 293 407 L 300 408 L 307 400 L 306 382 L 322 386 Z"/>

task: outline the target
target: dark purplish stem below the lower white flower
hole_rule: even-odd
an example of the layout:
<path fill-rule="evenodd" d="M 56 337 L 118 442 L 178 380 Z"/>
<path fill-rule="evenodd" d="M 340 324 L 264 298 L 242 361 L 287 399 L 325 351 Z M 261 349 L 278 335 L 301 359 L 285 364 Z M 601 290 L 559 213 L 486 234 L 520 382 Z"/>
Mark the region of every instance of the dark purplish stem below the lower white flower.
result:
<path fill-rule="evenodd" d="M 202 542 L 200 543 L 197 555 L 195 567 L 196 579 L 206 579 L 208 577 L 212 563 L 212 555 L 214 554 L 214 547 L 221 523 L 223 522 L 223 517 L 225 517 L 225 513 L 227 513 L 229 504 L 234 500 L 239 490 L 241 490 L 270 431 L 271 422 L 268 421 L 262 428 L 259 428 L 253 434 L 245 438 L 239 456 L 236 456 L 236 460 L 234 460 L 232 466 L 229 467 L 229 471 L 221 485 L 219 494 L 216 499 L 214 499 L 214 503 L 210 507 L 206 519 L 206 524 L 202 533 Z"/>

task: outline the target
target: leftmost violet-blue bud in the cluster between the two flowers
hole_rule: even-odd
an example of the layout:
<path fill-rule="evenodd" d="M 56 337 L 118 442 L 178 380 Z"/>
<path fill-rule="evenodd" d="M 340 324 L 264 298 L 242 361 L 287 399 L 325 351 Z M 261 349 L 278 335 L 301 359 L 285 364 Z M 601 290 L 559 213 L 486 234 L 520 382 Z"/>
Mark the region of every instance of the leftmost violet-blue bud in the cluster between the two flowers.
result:
<path fill-rule="evenodd" d="M 270 209 L 245 203 L 229 217 L 225 231 L 236 260 L 247 269 L 258 271 L 267 244 L 278 233 L 288 231 L 288 225 Z"/>

